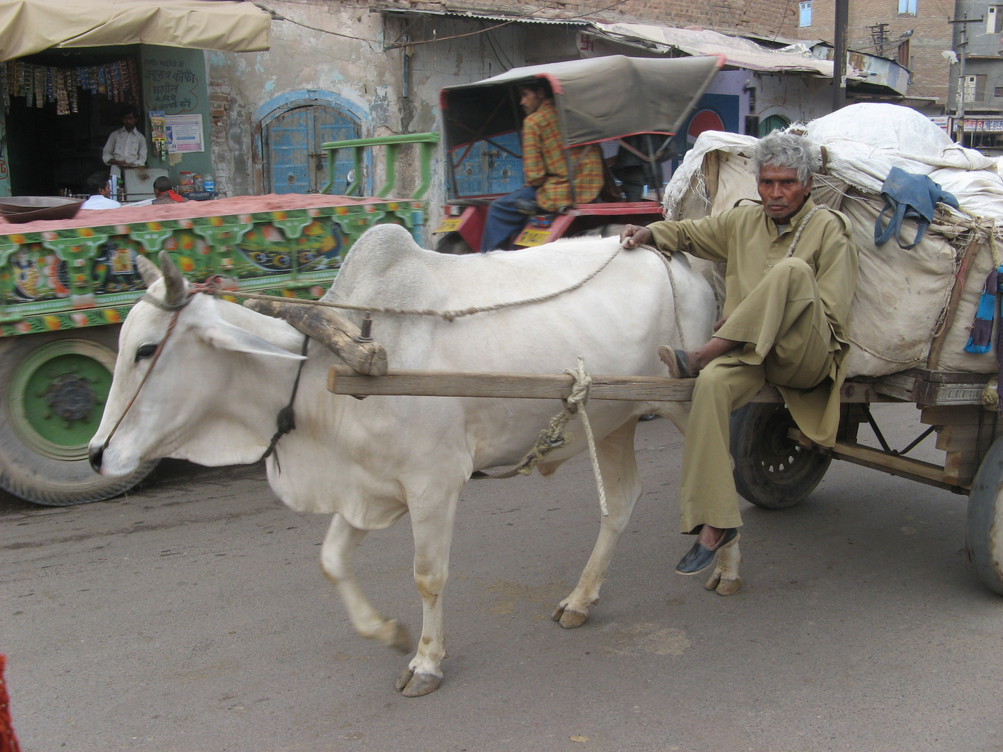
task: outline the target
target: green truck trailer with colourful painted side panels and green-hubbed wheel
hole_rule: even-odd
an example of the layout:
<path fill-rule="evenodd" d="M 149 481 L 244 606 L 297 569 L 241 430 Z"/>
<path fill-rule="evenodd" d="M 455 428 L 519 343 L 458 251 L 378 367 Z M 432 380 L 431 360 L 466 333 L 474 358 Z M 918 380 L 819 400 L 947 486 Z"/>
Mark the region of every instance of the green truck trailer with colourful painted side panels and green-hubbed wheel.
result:
<path fill-rule="evenodd" d="M 368 228 L 401 225 L 424 241 L 422 197 L 437 142 L 437 133 L 418 133 L 325 143 L 328 181 L 319 195 L 0 222 L 0 488 L 40 504 L 77 504 L 121 493 L 153 468 L 104 478 L 87 463 L 87 443 L 111 384 L 118 328 L 143 294 L 136 257 L 155 262 L 164 250 L 193 282 L 233 278 L 235 300 L 241 292 L 320 298 Z M 406 143 L 417 144 L 421 179 L 410 198 L 390 199 Z M 386 149 L 386 180 L 374 196 L 356 196 L 372 146 Z M 346 196 L 332 196 L 335 161 L 345 149 L 356 179 Z"/>

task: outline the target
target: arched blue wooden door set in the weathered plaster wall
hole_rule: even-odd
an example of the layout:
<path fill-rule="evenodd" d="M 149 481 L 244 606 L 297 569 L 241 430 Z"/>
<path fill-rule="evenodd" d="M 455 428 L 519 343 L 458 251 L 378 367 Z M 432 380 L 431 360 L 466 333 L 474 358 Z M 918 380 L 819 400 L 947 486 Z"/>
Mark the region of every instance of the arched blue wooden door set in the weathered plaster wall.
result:
<path fill-rule="evenodd" d="M 317 193 L 327 179 L 321 144 L 358 137 L 354 120 L 319 104 L 297 107 L 268 125 L 266 173 L 273 194 Z M 351 156 L 337 162 L 334 193 L 341 193 Z"/>

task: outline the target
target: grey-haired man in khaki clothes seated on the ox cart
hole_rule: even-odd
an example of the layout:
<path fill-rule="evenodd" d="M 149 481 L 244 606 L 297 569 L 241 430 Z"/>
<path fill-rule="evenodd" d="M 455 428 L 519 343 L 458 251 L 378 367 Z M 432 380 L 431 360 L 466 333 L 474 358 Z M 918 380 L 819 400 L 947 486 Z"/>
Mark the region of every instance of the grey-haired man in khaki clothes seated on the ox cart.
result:
<path fill-rule="evenodd" d="M 659 348 L 672 376 L 696 377 L 680 506 L 681 531 L 697 540 L 676 567 L 680 575 L 709 567 L 738 540 L 728 417 L 765 381 L 778 387 L 807 438 L 835 443 L 858 261 L 849 220 L 811 201 L 816 151 L 798 135 L 770 133 L 752 156 L 761 205 L 628 225 L 621 234 L 625 248 L 653 240 L 662 251 L 727 264 L 723 318 L 711 340 L 697 350 Z"/>

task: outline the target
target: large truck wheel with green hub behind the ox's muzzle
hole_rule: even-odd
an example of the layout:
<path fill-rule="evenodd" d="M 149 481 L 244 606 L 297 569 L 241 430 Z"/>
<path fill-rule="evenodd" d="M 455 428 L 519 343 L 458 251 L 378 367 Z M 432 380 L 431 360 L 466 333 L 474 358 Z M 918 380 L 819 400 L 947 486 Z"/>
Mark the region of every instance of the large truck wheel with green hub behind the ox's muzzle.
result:
<path fill-rule="evenodd" d="M 48 506 L 110 498 L 153 469 L 105 478 L 87 462 L 104 411 L 117 327 L 0 342 L 0 488 Z"/>

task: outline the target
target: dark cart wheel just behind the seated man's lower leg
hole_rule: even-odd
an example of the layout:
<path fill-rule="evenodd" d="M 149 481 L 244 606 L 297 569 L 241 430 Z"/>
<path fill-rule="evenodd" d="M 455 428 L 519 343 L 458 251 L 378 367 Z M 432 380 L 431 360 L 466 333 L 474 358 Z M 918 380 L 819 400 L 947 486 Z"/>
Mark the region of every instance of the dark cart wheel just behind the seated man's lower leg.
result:
<path fill-rule="evenodd" d="M 743 405 L 731 413 L 728 427 L 735 487 L 756 506 L 785 509 L 800 503 L 831 461 L 787 437 L 787 430 L 796 424 L 780 403 Z"/>

